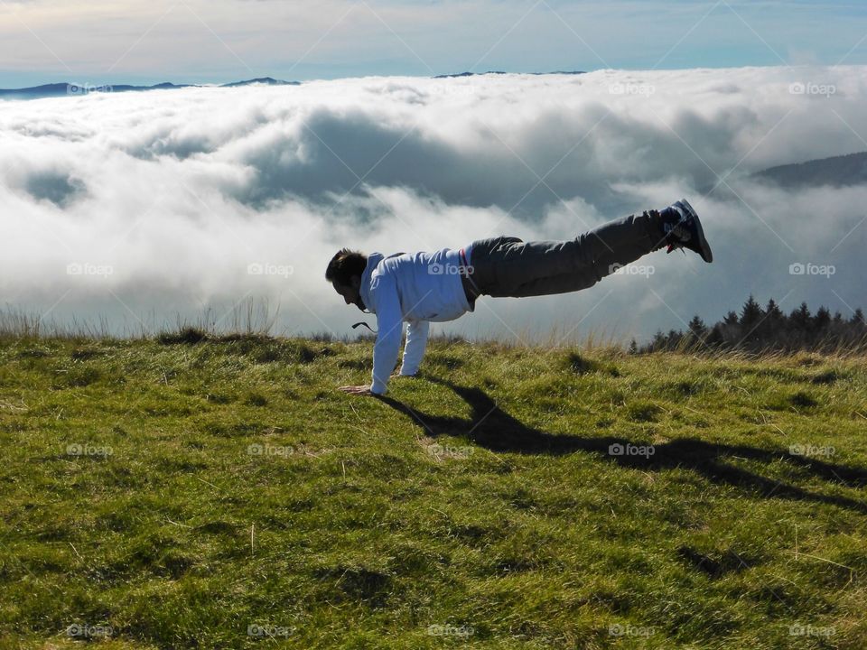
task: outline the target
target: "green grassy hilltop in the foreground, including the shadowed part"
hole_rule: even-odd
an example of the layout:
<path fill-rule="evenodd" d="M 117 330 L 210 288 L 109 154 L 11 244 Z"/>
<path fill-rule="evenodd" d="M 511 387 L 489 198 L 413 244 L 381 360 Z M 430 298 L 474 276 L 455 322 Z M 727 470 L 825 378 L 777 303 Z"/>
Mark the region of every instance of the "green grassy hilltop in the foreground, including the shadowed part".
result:
<path fill-rule="evenodd" d="M 369 343 L 3 339 L 2 645 L 867 647 L 864 357 L 423 370 L 380 400 L 335 389 Z"/>

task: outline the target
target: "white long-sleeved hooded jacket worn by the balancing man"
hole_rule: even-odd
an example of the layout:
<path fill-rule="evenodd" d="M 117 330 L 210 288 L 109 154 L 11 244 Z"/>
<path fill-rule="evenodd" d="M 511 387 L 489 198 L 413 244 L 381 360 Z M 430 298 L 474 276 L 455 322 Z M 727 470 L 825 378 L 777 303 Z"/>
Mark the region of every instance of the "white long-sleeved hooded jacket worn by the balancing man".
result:
<path fill-rule="evenodd" d="M 470 246 L 464 248 L 469 264 Z M 377 315 L 377 342 L 373 348 L 373 383 L 370 390 L 382 395 L 395 369 L 403 321 L 406 348 L 401 375 L 415 375 L 427 347 L 431 320 L 455 320 L 475 305 L 467 302 L 461 283 L 458 250 L 443 248 L 435 253 L 368 255 L 361 275 L 361 300 Z"/>

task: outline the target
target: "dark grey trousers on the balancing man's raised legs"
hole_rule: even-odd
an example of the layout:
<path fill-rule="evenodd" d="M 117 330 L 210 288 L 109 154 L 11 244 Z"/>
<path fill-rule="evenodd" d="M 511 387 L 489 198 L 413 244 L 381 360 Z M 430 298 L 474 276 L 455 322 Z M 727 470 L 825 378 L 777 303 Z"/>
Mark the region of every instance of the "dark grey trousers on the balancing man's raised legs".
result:
<path fill-rule="evenodd" d="M 484 295 L 521 298 L 586 289 L 665 245 L 656 210 L 603 224 L 568 241 L 473 242 L 471 279 Z"/>

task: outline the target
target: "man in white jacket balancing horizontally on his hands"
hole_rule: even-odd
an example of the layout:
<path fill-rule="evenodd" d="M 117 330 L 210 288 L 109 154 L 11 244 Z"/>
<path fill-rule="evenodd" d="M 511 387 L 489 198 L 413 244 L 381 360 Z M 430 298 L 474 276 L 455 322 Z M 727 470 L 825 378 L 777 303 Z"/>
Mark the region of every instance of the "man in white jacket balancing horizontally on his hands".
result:
<path fill-rule="evenodd" d="M 523 298 L 574 292 L 642 255 L 667 246 L 688 248 L 713 261 L 702 224 L 686 200 L 661 211 L 617 219 L 567 241 L 479 239 L 459 250 L 364 255 L 348 248 L 331 258 L 325 279 L 347 304 L 377 315 L 371 385 L 342 386 L 355 395 L 383 395 L 394 370 L 403 322 L 406 348 L 400 376 L 414 376 L 424 356 L 431 320 L 475 311 L 480 295 Z"/>

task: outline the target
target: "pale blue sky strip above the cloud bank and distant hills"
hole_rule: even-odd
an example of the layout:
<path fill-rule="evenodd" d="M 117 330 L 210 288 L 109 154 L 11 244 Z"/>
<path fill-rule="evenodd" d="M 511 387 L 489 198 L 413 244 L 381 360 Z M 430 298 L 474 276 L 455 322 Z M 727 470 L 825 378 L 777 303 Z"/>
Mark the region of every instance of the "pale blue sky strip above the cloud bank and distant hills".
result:
<path fill-rule="evenodd" d="M 0 88 L 867 62 L 867 4 L 0 0 Z"/>

